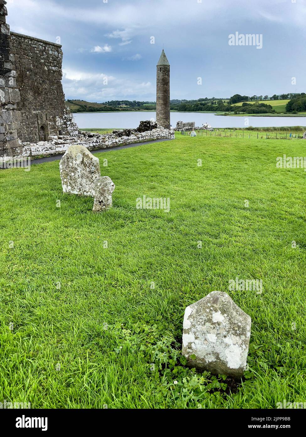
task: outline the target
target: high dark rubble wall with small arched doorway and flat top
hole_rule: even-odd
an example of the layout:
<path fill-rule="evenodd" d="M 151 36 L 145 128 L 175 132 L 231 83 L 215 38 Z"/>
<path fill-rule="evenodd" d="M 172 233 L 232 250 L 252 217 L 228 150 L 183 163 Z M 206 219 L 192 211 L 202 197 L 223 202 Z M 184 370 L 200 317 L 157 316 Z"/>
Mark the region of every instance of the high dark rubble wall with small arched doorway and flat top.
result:
<path fill-rule="evenodd" d="M 17 129 L 22 142 L 45 141 L 49 135 L 75 135 L 78 128 L 65 107 L 61 45 L 10 32 L 21 112 Z"/>

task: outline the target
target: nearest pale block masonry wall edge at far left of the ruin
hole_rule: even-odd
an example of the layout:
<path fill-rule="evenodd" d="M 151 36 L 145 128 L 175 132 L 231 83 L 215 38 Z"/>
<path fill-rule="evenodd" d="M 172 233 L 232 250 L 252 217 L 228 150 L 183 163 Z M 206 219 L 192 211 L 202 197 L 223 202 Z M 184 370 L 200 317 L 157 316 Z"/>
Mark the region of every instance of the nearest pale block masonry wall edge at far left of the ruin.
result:
<path fill-rule="evenodd" d="M 15 59 L 10 52 L 6 4 L 5 0 L 0 0 L 0 159 L 22 153 L 17 136 L 21 122 L 21 113 L 17 111 L 20 93 L 16 83 Z"/>

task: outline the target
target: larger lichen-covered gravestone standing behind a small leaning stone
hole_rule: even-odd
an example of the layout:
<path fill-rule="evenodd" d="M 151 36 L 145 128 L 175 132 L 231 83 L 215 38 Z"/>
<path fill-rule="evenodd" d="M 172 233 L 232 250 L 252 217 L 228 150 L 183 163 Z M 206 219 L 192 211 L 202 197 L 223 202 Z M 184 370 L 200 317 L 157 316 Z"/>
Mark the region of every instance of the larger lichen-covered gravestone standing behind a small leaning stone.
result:
<path fill-rule="evenodd" d="M 100 177 L 99 159 L 84 146 L 67 149 L 59 163 L 64 193 L 95 196 L 95 180 Z"/>

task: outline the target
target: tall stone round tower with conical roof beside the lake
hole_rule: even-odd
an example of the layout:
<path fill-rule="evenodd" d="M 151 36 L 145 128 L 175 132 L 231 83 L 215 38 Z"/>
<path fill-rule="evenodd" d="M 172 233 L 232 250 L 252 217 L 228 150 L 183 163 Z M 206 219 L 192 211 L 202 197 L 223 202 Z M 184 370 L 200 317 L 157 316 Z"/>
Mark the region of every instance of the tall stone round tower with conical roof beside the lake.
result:
<path fill-rule="evenodd" d="M 170 129 L 170 64 L 164 49 L 157 64 L 156 122 Z"/>

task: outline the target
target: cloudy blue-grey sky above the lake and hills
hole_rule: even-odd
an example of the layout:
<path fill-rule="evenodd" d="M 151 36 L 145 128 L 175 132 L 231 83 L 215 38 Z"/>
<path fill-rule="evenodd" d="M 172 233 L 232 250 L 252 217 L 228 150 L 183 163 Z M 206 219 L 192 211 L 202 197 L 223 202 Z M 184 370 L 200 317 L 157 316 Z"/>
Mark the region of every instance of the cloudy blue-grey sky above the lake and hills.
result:
<path fill-rule="evenodd" d="M 7 0 L 7 8 L 12 31 L 60 38 L 66 98 L 155 101 L 163 44 L 172 99 L 306 91 L 306 0 Z M 236 32 L 262 35 L 262 49 L 229 45 Z"/>

